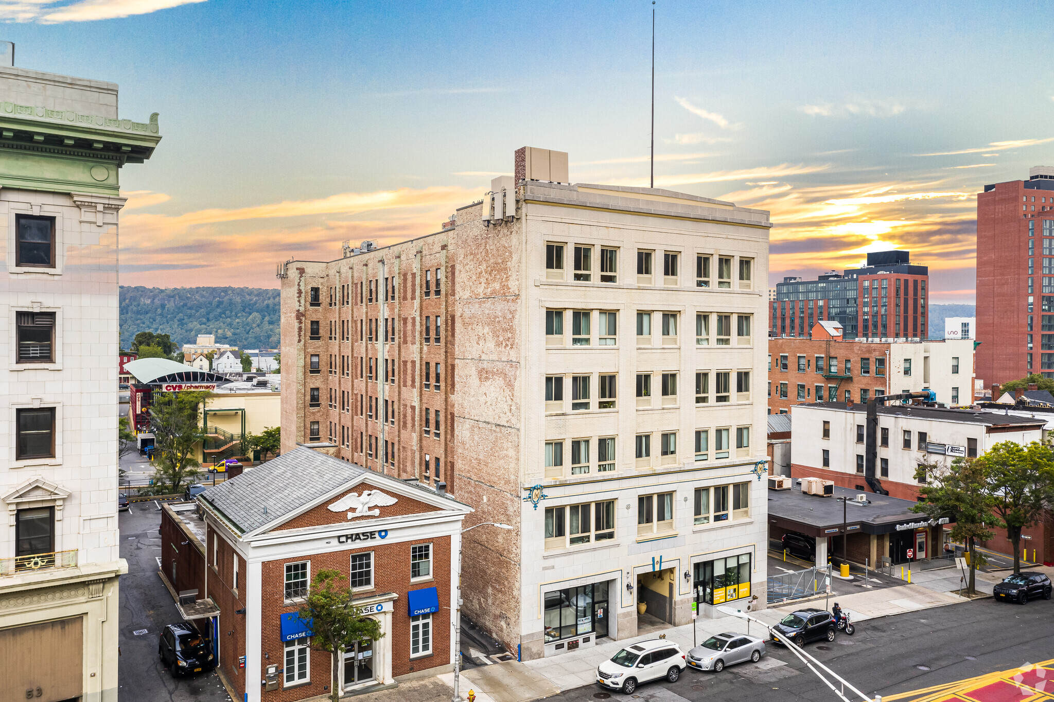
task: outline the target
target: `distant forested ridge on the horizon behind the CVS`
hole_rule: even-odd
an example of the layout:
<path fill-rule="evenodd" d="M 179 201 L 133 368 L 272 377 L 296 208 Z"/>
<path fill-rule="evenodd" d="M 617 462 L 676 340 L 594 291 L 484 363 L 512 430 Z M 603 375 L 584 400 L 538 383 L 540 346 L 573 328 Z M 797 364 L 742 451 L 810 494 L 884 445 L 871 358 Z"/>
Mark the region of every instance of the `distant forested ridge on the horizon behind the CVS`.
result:
<path fill-rule="evenodd" d="M 277 349 L 279 291 L 266 288 L 144 288 L 121 286 L 121 348 L 136 333 L 169 334 L 179 346 L 198 334 L 240 349 Z"/>

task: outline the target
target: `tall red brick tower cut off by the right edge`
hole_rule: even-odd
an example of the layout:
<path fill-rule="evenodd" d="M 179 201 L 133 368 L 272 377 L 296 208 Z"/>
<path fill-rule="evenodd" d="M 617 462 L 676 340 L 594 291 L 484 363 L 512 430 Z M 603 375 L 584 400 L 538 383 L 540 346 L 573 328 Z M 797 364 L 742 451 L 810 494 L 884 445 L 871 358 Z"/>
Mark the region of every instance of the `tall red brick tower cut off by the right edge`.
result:
<path fill-rule="evenodd" d="M 1054 167 L 977 194 L 977 377 L 1054 377 Z"/>

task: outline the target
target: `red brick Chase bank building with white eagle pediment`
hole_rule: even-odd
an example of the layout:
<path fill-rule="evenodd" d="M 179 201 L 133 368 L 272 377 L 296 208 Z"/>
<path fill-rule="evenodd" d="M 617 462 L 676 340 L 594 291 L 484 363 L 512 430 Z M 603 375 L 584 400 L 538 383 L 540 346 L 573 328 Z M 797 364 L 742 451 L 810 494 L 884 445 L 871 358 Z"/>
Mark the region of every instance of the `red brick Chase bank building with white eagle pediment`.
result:
<path fill-rule="evenodd" d="M 179 609 L 202 612 L 197 626 L 238 699 L 329 694 L 331 656 L 311 648 L 296 615 L 321 569 L 340 571 L 385 635 L 341 652 L 343 693 L 452 669 L 467 505 L 306 448 L 210 488 L 198 505 L 203 519 L 163 510 L 161 570 L 177 592 L 197 591 Z"/>

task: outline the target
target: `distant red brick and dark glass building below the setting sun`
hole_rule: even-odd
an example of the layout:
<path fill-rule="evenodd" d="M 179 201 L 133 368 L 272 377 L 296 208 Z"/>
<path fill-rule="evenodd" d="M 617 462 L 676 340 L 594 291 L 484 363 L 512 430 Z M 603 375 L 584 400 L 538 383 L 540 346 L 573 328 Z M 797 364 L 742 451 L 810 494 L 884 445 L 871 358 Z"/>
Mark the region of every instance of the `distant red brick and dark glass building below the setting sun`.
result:
<path fill-rule="evenodd" d="M 865 266 L 816 280 L 783 278 L 768 303 L 768 335 L 806 336 L 826 319 L 847 339 L 926 338 L 929 279 L 930 269 L 913 265 L 910 251 L 868 253 Z"/>

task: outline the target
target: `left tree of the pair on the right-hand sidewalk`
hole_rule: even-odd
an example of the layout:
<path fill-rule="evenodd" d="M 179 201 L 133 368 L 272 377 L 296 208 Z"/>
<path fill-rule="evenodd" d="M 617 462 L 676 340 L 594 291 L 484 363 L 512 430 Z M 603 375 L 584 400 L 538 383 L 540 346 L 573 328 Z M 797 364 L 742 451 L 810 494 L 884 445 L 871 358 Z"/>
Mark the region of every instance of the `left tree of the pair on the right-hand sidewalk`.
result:
<path fill-rule="evenodd" d="M 974 573 L 982 559 L 976 550 L 978 541 L 987 541 L 995 534 L 985 524 L 992 524 L 995 516 L 984 487 L 988 474 L 983 464 L 976 459 L 955 459 L 951 466 L 937 463 L 921 463 L 915 471 L 919 486 L 919 496 L 923 502 L 912 507 L 931 520 L 949 518 L 955 525 L 951 537 L 967 544 L 970 553 L 970 581 L 967 592 L 975 594 Z"/>

